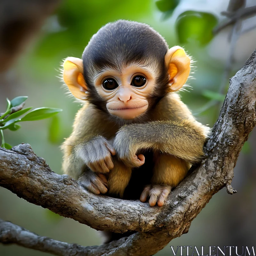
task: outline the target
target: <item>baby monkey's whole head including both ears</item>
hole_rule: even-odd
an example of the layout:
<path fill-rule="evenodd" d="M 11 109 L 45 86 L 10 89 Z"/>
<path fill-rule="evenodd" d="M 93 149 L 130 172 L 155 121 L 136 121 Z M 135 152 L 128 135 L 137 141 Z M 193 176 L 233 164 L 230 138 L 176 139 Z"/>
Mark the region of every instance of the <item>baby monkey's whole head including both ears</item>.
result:
<path fill-rule="evenodd" d="M 92 36 L 82 59 L 68 57 L 63 79 L 70 92 L 111 117 L 140 120 L 169 92 L 187 81 L 190 59 L 171 49 L 146 24 L 118 20 Z"/>

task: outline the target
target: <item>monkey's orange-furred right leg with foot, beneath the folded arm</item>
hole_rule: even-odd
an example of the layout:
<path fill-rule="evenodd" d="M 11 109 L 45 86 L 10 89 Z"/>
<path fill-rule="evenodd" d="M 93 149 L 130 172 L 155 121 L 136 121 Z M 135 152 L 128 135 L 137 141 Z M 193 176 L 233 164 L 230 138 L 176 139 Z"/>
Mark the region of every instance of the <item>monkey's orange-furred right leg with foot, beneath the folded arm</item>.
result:
<path fill-rule="evenodd" d="M 191 164 L 184 160 L 167 154 L 155 153 L 155 166 L 151 184 L 147 185 L 140 196 L 140 201 L 145 202 L 149 197 L 149 204 L 163 206 L 172 188 L 178 186 L 185 178 Z"/>

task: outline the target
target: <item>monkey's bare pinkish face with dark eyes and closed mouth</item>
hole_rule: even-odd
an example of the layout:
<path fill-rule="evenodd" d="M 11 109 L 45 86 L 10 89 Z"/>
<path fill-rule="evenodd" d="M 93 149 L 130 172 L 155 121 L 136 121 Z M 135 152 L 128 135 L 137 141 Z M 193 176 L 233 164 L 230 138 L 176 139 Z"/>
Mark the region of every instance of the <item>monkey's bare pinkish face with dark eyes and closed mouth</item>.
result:
<path fill-rule="evenodd" d="M 111 115 L 131 120 L 148 109 L 148 95 L 155 87 L 152 68 L 129 65 L 120 71 L 105 69 L 94 78 L 97 92 Z"/>

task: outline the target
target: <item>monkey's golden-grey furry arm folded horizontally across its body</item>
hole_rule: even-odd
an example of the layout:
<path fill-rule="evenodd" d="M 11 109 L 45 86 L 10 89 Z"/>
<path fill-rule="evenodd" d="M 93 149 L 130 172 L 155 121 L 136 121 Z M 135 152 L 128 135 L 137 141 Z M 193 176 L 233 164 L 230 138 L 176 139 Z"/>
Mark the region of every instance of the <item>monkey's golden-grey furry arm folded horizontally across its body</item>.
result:
<path fill-rule="evenodd" d="M 151 148 L 172 154 L 190 163 L 204 155 L 203 146 L 210 129 L 193 119 L 153 121 L 122 127 L 114 140 L 117 156 L 136 167 L 136 153 Z"/>

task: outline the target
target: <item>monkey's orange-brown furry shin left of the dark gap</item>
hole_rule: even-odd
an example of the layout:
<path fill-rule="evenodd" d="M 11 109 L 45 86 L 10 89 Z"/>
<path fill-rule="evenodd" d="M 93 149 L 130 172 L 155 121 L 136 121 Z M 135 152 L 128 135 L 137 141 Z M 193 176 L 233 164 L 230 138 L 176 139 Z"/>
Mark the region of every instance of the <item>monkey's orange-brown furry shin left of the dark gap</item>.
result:
<path fill-rule="evenodd" d="M 114 169 L 109 172 L 108 192 L 112 195 L 124 196 L 124 189 L 131 179 L 132 168 L 127 167 L 123 162 L 113 157 Z"/>

